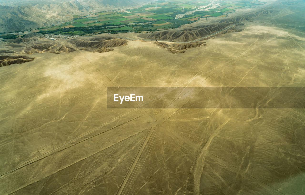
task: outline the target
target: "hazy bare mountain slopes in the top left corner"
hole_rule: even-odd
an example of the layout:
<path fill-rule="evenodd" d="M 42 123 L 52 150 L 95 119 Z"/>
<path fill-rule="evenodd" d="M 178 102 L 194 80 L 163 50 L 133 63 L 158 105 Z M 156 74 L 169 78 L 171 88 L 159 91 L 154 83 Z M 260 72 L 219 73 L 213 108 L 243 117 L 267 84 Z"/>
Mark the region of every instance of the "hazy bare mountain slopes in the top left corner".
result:
<path fill-rule="evenodd" d="M 0 32 L 30 30 L 55 22 L 68 21 L 72 15 L 132 8 L 151 0 L 0 0 Z"/>

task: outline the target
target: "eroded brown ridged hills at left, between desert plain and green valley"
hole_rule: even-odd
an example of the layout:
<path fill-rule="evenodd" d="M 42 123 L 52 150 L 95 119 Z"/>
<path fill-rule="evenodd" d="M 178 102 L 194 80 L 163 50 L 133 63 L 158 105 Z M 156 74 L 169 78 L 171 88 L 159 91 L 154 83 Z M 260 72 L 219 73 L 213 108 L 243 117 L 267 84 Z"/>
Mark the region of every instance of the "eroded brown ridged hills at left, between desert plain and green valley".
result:
<path fill-rule="evenodd" d="M 35 58 L 28 55 L 34 53 L 70 53 L 77 50 L 85 50 L 91 52 L 107 52 L 113 51 L 114 47 L 127 44 L 127 40 L 116 37 L 94 37 L 94 38 L 75 38 L 71 40 L 38 40 L 29 41 L 28 38 L 16 38 L 7 41 L 3 45 L 5 49 L 0 48 L 0 66 L 9 66 L 11 64 L 21 64 L 33 61 Z"/>

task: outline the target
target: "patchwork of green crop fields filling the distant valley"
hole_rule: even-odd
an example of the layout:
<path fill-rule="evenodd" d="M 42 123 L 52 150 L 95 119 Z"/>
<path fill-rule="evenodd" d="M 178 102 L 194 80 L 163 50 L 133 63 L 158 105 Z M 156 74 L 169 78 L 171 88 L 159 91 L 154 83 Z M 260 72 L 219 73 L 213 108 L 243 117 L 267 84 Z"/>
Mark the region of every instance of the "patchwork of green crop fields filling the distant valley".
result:
<path fill-rule="evenodd" d="M 210 15 L 209 17 L 225 17 L 239 7 L 264 4 L 264 2 L 257 0 L 228 0 L 219 2 L 221 6 L 209 11 L 195 11 L 192 15 L 185 15 L 182 18 L 175 19 L 178 14 L 194 11 L 198 9 L 197 6 L 208 5 L 209 3 L 209 0 L 201 0 L 200 2 L 197 0 L 160 0 L 145 4 L 137 9 L 126 9 L 126 12 L 98 12 L 96 13 L 98 17 L 88 18 L 88 16 L 73 15 L 74 19 L 72 21 L 64 23 L 65 29 L 61 28 L 61 25 L 48 26 L 47 28 L 40 28 L 39 33 L 84 35 L 102 33 L 109 30 L 116 31 L 115 33 L 120 31 L 155 31 L 158 29 L 178 28 L 181 25 L 196 22 L 197 19 L 188 20 L 192 18 L 203 17 L 205 15 Z M 98 22 L 95 22 L 96 20 Z M 162 25 L 163 23 L 165 24 Z"/>

